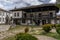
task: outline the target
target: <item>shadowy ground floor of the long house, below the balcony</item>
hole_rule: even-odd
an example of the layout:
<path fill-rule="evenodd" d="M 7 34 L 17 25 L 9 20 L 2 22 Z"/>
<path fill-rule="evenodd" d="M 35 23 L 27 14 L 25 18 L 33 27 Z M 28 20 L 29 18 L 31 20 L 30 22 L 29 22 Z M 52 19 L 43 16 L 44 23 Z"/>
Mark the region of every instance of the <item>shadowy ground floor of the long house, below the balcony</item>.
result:
<path fill-rule="evenodd" d="M 18 25 L 44 25 L 44 24 L 56 24 L 56 19 L 13 19 L 13 23 Z"/>

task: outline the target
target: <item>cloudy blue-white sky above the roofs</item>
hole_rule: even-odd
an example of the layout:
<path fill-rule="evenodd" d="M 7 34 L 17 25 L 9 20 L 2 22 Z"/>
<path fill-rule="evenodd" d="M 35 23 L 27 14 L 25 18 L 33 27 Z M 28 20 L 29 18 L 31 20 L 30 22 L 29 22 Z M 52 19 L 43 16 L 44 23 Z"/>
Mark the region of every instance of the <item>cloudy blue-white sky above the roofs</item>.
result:
<path fill-rule="evenodd" d="M 15 6 L 21 8 L 48 3 L 56 3 L 56 0 L 0 0 L 0 8 L 9 10 L 13 9 Z"/>

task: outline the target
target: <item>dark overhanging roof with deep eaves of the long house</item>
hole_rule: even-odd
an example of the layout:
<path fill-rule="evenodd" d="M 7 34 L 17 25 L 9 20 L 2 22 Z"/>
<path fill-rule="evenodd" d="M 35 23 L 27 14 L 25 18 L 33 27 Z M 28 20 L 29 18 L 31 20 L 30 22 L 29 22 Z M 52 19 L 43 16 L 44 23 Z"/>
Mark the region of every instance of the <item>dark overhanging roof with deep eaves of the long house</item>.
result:
<path fill-rule="evenodd" d="M 13 9 L 10 11 L 38 12 L 38 11 L 52 11 L 52 10 L 57 13 L 59 11 L 59 8 L 56 7 L 54 4 L 42 4 L 42 5 Z"/>

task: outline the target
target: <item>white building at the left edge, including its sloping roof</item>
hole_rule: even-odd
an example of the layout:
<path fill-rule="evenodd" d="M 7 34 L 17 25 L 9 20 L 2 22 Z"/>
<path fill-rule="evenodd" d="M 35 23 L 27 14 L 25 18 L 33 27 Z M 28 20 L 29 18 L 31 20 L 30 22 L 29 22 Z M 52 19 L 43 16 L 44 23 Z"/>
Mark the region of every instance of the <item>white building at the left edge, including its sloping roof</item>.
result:
<path fill-rule="evenodd" d="M 9 16 L 9 12 L 0 8 L 0 24 L 6 23 L 6 17 L 7 16 Z"/>

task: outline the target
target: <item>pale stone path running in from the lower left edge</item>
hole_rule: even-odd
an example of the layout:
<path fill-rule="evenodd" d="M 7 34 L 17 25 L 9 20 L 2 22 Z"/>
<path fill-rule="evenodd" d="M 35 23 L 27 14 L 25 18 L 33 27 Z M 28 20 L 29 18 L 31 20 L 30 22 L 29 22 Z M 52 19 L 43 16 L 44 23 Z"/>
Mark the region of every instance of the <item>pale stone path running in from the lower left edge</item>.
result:
<path fill-rule="evenodd" d="M 5 32 L 1 32 L 0 33 L 0 40 L 3 40 L 3 38 L 5 37 L 10 37 L 10 36 L 14 36 L 20 32 L 23 32 L 24 30 L 12 30 L 12 31 L 5 31 Z"/>

